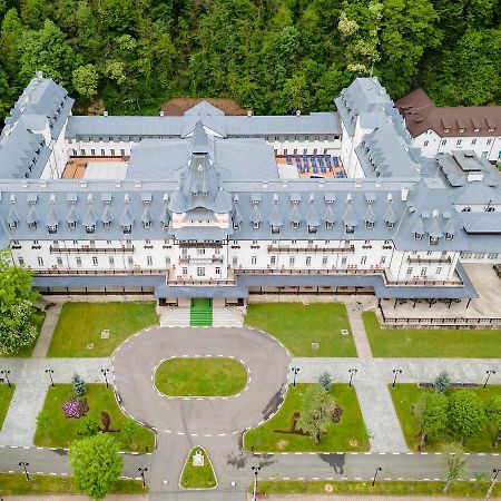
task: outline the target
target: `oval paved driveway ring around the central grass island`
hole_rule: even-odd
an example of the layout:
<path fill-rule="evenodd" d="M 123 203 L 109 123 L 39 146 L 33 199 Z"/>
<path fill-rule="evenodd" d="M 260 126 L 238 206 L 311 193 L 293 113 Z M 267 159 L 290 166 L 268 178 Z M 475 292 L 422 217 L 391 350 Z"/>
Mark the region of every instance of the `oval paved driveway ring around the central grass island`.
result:
<path fill-rule="evenodd" d="M 235 357 L 247 370 L 247 386 L 229 397 L 160 395 L 154 372 L 173 356 Z M 153 327 L 125 341 L 111 362 L 119 402 L 135 420 L 159 432 L 217 436 L 255 426 L 276 411 L 291 360 L 273 337 L 248 327 Z"/>

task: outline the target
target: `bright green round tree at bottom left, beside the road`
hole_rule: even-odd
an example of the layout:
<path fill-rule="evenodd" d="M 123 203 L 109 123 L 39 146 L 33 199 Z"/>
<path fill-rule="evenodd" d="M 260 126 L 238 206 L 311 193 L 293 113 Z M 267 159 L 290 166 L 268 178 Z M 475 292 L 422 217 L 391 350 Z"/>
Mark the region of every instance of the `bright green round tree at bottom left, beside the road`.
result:
<path fill-rule="evenodd" d="M 124 466 L 118 450 L 117 441 L 109 434 L 73 441 L 68 458 L 77 488 L 89 498 L 104 499 Z"/>

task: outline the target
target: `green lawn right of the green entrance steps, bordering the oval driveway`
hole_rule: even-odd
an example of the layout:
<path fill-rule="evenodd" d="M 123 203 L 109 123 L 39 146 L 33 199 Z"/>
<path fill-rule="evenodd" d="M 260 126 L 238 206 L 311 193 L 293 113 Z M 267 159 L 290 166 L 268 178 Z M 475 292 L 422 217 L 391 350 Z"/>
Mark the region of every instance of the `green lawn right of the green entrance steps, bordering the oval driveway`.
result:
<path fill-rule="evenodd" d="M 352 328 L 342 303 L 259 303 L 248 306 L 245 323 L 268 332 L 293 356 L 356 356 Z M 341 330 L 348 335 L 342 335 Z M 318 343 L 318 348 L 312 348 Z"/>

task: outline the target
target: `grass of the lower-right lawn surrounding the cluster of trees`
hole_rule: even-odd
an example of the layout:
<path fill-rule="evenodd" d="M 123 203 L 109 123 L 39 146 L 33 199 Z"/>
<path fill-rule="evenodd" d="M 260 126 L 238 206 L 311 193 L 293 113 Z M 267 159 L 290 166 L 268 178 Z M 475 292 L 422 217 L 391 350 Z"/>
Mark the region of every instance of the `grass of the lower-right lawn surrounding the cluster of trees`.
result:
<path fill-rule="evenodd" d="M 419 425 L 412 415 L 412 405 L 418 401 L 419 396 L 425 392 L 432 392 L 433 389 L 421 389 L 416 384 L 396 384 L 394 389 L 390 387 L 390 393 L 393 399 L 393 405 L 399 416 L 402 432 L 409 448 L 418 451 L 420 436 L 415 434 L 419 432 Z M 448 394 L 458 390 L 449 390 Z M 482 387 L 473 390 L 485 403 L 501 393 L 501 386 L 490 385 L 485 390 Z M 474 439 L 469 439 L 464 442 L 464 450 L 466 452 L 497 452 L 492 442 L 495 438 L 495 429 L 491 424 L 487 424 L 482 434 Z M 439 451 L 442 444 L 454 441 L 454 436 L 444 433 L 438 438 L 429 438 L 424 451 Z"/>

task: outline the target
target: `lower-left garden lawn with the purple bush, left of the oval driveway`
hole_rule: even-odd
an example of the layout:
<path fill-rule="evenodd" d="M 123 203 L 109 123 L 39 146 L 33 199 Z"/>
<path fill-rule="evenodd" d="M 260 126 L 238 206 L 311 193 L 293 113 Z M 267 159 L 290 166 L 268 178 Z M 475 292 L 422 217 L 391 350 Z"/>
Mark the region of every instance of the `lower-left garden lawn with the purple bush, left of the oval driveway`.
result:
<path fill-rule="evenodd" d="M 49 387 L 42 412 L 38 418 L 33 443 L 43 448 L 68 448 L 73 440 L 100 433 L 108 428 L 108 432 L 119 441 L 122 451 L 153 452 L 155 445 L 154 433 L 120 411 L 112 387 L 105 384 L 87 384 L 87 392 L 78 396 L 71 384 L 57 384 Z M 70 402 L 70 399 L 76 399 Z M 88 411 L 85 412 L 78 402 L 87 400 Z M 80 418 L 67 418 L 62 406 L 68 404 L 68 413 Z M 85 406 L 85 403 L 82 403 Z M 107 413 L 108 418 L 102 415 Z"/>

